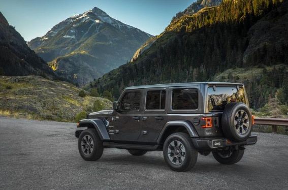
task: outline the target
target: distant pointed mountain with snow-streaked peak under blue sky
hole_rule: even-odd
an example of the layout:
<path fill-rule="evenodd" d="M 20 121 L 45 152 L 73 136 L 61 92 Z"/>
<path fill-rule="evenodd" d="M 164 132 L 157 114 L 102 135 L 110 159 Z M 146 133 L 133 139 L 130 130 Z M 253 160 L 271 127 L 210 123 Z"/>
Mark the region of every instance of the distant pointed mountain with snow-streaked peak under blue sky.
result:
<path fill-rule="evenodd" d="M 58 23 L 28 45 L 58 75 L 83 85 L 125 64 L 150 37 L 95 7 Z"/>

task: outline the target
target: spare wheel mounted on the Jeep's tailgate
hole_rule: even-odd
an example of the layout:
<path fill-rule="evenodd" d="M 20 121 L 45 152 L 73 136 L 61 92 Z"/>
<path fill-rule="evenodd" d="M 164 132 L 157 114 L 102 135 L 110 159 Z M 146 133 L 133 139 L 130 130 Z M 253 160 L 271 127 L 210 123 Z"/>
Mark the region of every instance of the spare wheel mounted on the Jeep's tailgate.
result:
<path fill-rule="evenodd" d="M 251 111 L 244 103 L 229 103 L 223 111 L 221 124 L 225 137 L 243 142 L 251 135 Z"/>

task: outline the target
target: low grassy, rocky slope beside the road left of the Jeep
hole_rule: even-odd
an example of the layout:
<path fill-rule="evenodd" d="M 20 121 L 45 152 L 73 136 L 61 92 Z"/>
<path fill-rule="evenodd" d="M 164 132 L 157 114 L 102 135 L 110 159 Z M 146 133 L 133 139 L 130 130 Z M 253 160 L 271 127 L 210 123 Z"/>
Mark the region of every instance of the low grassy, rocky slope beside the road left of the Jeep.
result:
<path fill-rule="evenodd" d="M 78 113 L 92 112 L 97 100 L 104 109 L 111 108 L 112 103 L 107 99 L 80 97 L 80 90 L 71 83 L 40 76 L 0 76 L 0 115 L 74 121 Z"/>

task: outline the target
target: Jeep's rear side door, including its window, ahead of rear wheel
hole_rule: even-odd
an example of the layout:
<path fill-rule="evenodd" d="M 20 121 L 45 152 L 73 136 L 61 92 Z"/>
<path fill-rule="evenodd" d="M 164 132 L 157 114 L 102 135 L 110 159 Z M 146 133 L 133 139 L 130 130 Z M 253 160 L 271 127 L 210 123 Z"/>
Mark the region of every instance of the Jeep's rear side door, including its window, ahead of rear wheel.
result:
<path fill-rule="evenodd" d="M 168 88 L 146 89 L 144 99 L 139 141 L 153 143 L 167 122 Z"/>

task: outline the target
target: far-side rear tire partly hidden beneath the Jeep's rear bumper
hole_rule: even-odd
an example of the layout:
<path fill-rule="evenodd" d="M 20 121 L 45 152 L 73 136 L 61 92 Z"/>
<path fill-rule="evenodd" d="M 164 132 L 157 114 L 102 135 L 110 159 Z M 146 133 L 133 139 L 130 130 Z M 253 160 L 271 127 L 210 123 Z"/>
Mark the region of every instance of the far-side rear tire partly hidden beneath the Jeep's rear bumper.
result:
<path fill-rule="evenodd" d="M 227 154 L 229 151 L 231 151 L 229 154 Z M 244 154 L 244 150 L 222 150 L 222 151 L 213 151 L 212 152 L 214 158 L 216 161 L 218 161 L 221 164 L 236 164 L 239 162 Z M 226 157 L 228 156 L 228 157 Z"/>

